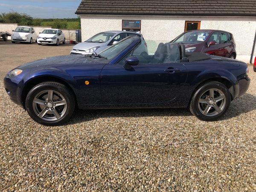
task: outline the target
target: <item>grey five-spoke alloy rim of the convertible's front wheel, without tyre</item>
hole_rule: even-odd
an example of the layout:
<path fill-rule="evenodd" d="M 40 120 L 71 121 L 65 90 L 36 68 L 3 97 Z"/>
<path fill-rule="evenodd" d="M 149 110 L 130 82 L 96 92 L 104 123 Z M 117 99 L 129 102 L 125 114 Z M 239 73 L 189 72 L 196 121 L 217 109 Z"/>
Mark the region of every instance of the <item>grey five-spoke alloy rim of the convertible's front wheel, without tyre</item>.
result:
<path fill-rule="evenodd" d="M 43 90 L 33 99 L 34 113 L 46 121 L 58 120 L 67 111 L 67 101 L 55 90 Z"/>

